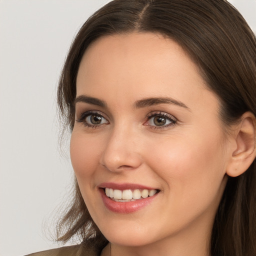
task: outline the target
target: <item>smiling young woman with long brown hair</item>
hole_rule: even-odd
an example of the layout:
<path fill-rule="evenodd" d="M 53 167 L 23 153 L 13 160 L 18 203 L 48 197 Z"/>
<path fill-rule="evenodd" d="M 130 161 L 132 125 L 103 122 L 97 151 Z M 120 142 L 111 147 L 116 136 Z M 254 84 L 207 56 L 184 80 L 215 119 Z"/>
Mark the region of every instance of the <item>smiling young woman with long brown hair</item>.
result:
<path fill-rule="evenodd" d="M 225 0 L 114 0 L 81 27 L 58 104 L 76 176 L 35 255 L 256 255 L 256 40 Z"/>

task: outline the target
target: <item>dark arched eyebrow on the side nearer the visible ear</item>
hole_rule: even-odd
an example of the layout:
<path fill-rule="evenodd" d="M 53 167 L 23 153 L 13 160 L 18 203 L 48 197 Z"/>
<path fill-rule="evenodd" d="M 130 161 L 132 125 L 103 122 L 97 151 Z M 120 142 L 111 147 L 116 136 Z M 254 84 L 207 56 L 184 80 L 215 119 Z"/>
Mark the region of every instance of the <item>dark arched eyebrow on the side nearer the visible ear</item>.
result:
<path fill-rule="evenodd" d="M 183 102 L 170 97 L 151 97 L 151 98 L 140 99 L 134 103 L 134 107 L 141 108 L 141 107 L 157 105 L 157 104 L 173 104 L 173 105 L 178 105 L 190 110 L 190 108 L 186 106 Z"/>

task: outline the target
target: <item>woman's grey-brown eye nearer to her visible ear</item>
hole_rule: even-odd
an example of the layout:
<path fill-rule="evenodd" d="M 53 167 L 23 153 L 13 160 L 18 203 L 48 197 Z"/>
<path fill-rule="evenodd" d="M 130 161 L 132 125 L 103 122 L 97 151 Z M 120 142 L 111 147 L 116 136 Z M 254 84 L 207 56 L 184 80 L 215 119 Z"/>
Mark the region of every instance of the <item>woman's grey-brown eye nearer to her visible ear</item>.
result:
<path fill-rule="evenodd" d="M 154 128 L 163 128 L 169 125 L 174 125 L 177 121 L 172 115 L 164 112 L 150 113 L 147 118 L 148 120 L 144 125 L 154 126 Z"/>

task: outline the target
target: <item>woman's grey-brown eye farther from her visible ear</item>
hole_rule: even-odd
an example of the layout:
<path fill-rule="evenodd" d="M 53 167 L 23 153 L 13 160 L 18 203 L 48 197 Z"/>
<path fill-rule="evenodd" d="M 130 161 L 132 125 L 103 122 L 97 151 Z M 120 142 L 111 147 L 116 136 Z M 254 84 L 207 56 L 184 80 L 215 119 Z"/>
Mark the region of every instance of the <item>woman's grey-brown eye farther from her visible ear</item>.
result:
<path fill-rule="evenodd" d="M 83 122 L 84 125 L 88 127 L 96 127 L 100 126 L 101 124 L 108 123 L 107 119 L 104 118 L 100 113 L 93 111 L 86 111 L 82 113 L 76 121 Z"/>

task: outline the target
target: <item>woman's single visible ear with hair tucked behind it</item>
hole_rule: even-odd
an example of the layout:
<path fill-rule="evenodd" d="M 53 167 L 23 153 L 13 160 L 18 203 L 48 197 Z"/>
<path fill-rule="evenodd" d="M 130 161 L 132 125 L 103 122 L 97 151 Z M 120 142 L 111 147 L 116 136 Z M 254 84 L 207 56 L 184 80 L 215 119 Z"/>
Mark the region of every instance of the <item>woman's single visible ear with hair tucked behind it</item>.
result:
<path fill-rule="evenodd" d="M 248 169 L 255 158 L 255 116 L 245 112 L 234 129 L 234 149 L 226 168 L 226 174 L 236 177 Z"/>

